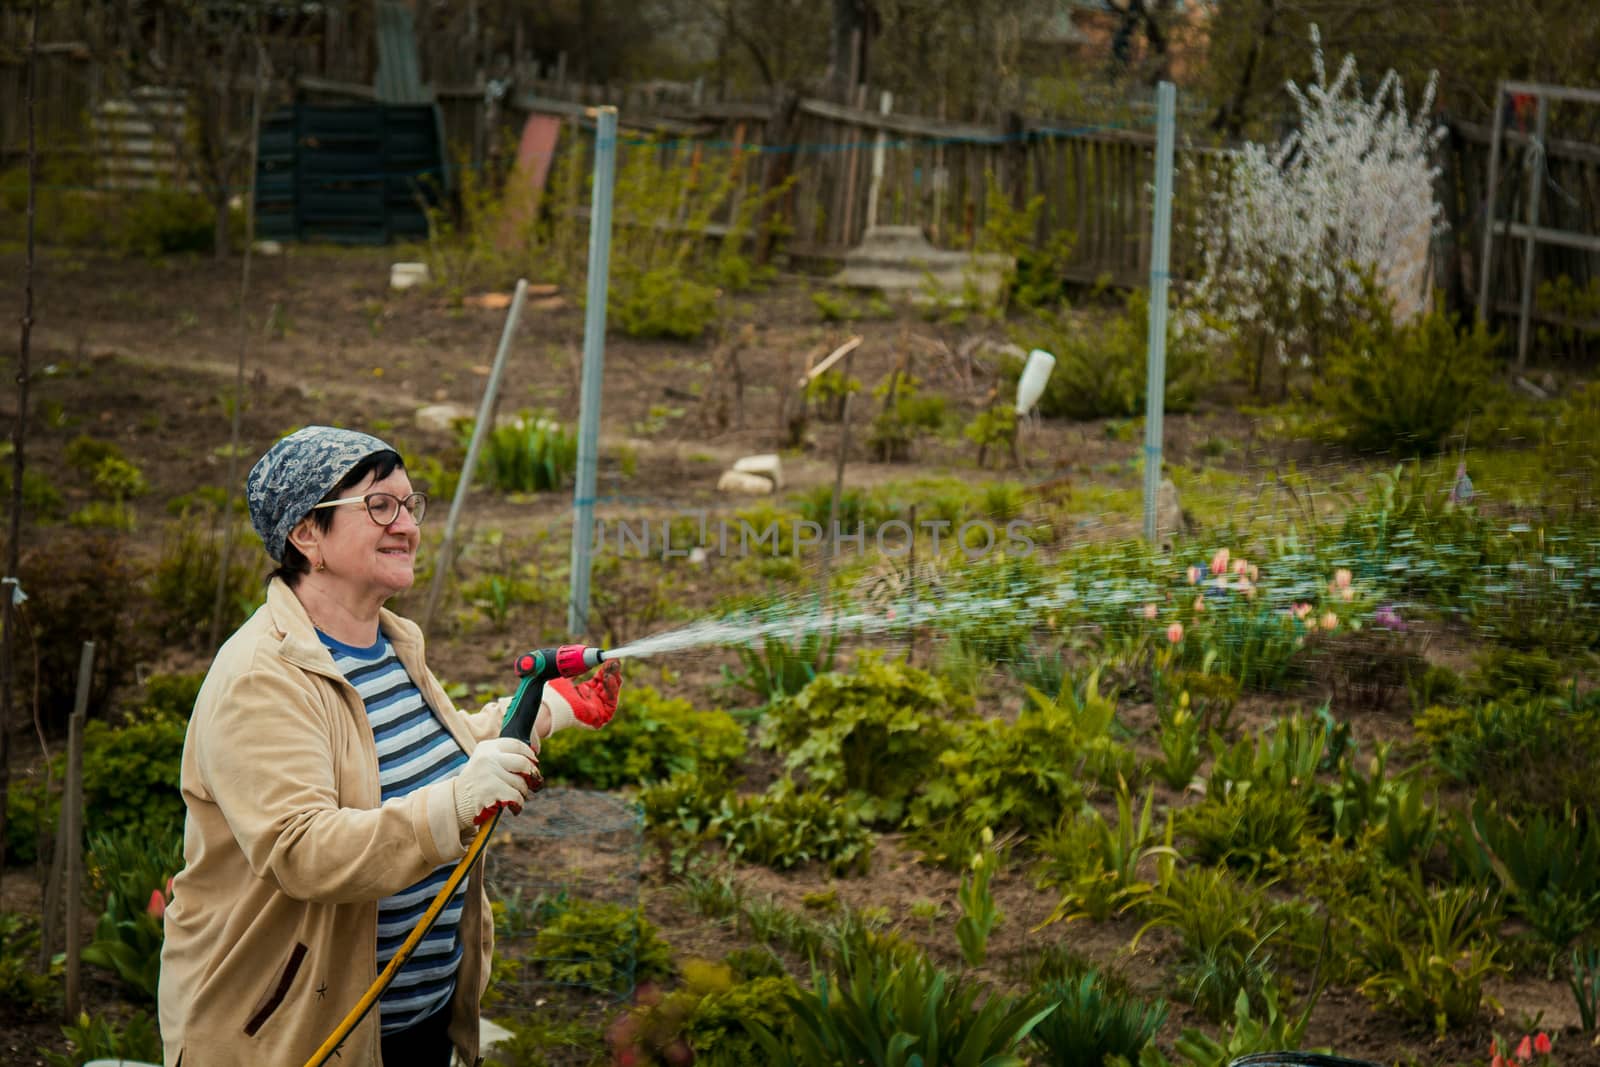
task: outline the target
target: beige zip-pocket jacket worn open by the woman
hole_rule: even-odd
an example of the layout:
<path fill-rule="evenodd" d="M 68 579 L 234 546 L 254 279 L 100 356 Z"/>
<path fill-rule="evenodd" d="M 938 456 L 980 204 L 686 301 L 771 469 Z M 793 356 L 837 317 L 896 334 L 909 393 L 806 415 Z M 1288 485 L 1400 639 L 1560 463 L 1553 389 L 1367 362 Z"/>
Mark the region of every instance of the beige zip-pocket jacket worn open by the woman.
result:
<path fill-rule="evenodd" d="M 462 749 L 499 733 L 499 704 L 454 709 L 414 624 L 384 611 L 381 625 Z M 162 949 L 166 1064 L 301 1067 L 378 976 L 378 901 L 466 854 L 456 779 L 379 803 L 366 709 L 274 579 L 206 673 L 181 784 L 184 870 Z M 450 1037 L 472 1064 L 494 941 L 483 864 L 461 937 Z M 378 1067 L 378 1038 L 374 1008 L 330 1064 Z"/>

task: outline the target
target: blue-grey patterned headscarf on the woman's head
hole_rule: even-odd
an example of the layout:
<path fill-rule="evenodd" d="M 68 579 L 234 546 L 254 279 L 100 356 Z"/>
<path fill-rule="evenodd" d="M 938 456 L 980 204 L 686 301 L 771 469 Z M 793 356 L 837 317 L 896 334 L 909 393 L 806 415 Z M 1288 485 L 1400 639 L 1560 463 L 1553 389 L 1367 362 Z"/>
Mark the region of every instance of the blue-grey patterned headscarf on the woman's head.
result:
<path fill-rule="evenodd" d="M 322 498 L 373 453 L 394 451 L 371 434 L 333 426 L 294 430 L 250 469 L 245 496 L 250 522 L 267 545 L 274 563 L 283 561 L 283 547 L 294 523 L 310 515 Z"/>

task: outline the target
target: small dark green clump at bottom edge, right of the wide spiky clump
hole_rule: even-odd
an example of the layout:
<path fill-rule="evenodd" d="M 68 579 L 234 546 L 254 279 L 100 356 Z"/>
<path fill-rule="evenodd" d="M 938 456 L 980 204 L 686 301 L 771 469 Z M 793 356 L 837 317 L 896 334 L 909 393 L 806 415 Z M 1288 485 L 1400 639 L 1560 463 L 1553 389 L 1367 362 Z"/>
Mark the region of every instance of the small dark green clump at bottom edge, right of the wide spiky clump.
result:
<path fill-rule="evenodd" d="M 1146 1003 L 1110 987 L 1099 973 L 1051 982 L 1043 998 L 1058 1005 L 1034 1027 L 1032 1041 L 1050 1067 L 1093 1067 L 1104 1064 L 1107 1056 L 1138 1062 L 1139 1053 L 1166 1022 L 1166 1001 Z"/>

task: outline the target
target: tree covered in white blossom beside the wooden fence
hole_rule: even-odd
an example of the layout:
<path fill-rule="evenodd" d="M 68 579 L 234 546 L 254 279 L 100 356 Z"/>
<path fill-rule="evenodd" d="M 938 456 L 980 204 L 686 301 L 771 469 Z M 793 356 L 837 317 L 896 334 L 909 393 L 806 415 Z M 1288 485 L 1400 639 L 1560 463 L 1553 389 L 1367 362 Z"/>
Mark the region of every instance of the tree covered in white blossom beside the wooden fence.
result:
<path fill-rule="evenodd" d="M 1371 306 L 1370 282 L 1402 315 L 1416 310 L 1440 226 L 1435 78 L 1413 115 L 1394 70 L 1368 101 L 1355 59 L 1330 83 L 1315 26 L 1310 40 L 1317 80 L 1288 83 L 1299 128 L 1232 154 L 1195 224 L 1192 306 L 1240 346 L 1256 390 L 1272 362 L 1317 368 L 1325 342 Z"/>

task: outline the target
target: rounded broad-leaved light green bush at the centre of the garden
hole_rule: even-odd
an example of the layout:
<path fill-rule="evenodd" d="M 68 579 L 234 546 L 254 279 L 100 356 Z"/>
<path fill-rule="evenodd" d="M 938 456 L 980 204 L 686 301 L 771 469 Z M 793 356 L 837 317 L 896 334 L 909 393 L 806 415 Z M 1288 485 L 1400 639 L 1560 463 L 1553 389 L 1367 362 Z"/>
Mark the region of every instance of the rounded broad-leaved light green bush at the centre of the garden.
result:
<path fill-rule="evenodd" d="M 762 744 L 784 753 L 784 766 L 870 821 L 898 822 L 925 768 L 954 737 L 952 697 L 933 675 L 862 656 L 850 673 L 818 675 L 774 704 Z"/>

